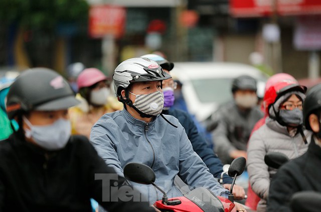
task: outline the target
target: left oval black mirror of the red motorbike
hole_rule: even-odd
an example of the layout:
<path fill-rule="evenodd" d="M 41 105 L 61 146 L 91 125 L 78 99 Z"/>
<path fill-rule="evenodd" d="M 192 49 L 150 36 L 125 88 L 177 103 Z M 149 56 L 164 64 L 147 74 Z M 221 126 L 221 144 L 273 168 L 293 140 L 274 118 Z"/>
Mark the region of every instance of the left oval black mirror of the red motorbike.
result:
<path fill-rule="evenodd" d="M 124 167 L 126 179 L 140 184 L 152 184 L 155 181 L 154 171 L 147 165 L 141 163 L 128 163 Z"/>

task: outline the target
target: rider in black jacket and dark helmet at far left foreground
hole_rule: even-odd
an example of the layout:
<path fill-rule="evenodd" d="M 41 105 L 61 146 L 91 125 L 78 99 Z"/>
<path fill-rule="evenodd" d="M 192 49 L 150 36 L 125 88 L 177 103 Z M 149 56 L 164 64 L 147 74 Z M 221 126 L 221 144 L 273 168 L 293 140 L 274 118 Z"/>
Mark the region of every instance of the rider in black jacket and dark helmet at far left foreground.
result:
<path fill-rule="evenodd" d="M 7 114 L 19 130 L 0 142 L 0 211 L 91 211 L 90 198 L 108 211 L 154 211 L 86 137 L 70 136 L 76 104 L 53 70 L 25 71 L 12 84 Z"/>

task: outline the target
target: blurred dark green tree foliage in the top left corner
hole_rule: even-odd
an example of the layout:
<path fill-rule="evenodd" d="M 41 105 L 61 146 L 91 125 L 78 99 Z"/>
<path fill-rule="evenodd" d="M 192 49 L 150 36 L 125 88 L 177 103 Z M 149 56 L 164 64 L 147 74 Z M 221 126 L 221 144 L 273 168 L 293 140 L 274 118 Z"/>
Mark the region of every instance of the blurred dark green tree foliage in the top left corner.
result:
<path fill-rule="evenodd" d="M 85 0 L 1 0 L 0 22 L 17 23 L 25 29 L 55 30 L 62 22 L 86 22 L 88 10 Z"/>

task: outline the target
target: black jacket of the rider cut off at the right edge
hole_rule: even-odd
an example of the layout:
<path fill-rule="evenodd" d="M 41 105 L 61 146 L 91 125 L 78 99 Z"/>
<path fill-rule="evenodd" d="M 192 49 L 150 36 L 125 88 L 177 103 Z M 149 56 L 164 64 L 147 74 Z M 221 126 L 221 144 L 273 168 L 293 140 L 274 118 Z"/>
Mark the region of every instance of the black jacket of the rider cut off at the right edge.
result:
<path fill-rule="evenodd" d="M 271 180 L 267 211 L 292 211 L 289 203 L 295 192 L 321 192 L 321 147 L 311 140 L 307 151 L 284 164 Z"/>

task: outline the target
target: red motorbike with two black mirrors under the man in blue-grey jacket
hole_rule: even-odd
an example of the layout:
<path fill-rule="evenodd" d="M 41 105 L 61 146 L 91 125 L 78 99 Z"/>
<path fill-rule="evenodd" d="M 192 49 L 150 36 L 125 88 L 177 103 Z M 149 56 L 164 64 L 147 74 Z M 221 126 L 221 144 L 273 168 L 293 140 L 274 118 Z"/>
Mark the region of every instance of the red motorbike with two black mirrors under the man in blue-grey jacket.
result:
<path fill-rule="evenodd" d="M 204 187 L 198 187 L 184 196 L 168 198 L 165 191 L 155 183 L 153 170 L 141 163 L 128 163 L 124 167 L 124 176 L 130 181 L 141 184 L 152 184 L 164 195 L 162 200 L 156 201 L 153 205 L 163 212 L 236 212 L 233 196 L 233 186 L 236 177 L 241 175 L 245 169 L 246 159 L 239 157 L 231 163 L 228 174 L 233 177 L 233 182 L 228 198 L 216 196 L 213 192 Z"/>

